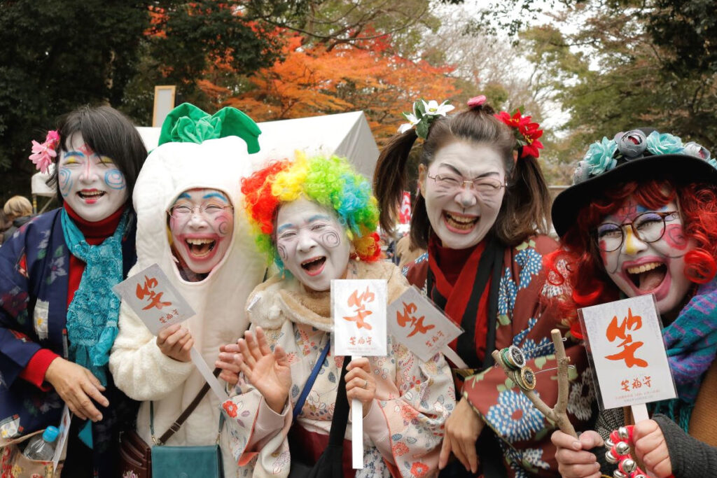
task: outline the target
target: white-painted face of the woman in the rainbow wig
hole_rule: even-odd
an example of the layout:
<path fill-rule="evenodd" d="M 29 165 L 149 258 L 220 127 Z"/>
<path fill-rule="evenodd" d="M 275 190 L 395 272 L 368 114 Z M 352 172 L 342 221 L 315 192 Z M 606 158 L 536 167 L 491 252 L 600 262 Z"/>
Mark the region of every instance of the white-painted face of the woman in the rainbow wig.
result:
<path fill-rule="evenodd" d="M 285 267 L 309 290 L 329 290 L 346 277 L 351 242 L 336 212 L 308 199 L 282 204 L 276 248 Z"/>

